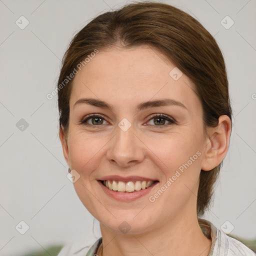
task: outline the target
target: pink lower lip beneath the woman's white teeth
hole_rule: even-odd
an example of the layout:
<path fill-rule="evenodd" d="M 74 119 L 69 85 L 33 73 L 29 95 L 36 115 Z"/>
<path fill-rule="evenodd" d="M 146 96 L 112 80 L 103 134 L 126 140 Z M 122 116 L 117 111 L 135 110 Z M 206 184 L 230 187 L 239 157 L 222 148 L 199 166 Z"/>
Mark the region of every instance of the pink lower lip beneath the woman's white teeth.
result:
<path fill-rule="evenodd" d="M 151 186 L 149 186 L 148 188 L 145 189 L 140 189 L 138 191 L 134 190 L 133 192 L 118 192 L 118 191 L 113 191 L 109 188 L 107 188 L 106 186 L 104 186 L 100 180 L 97 180 L 99 185 L 102 187 L 103 191 L 111 196 L 112 198 L 118 200 L 118 201 L 134 201 L 140 197 L 142 197 L 143 195 L 148 194 L 151 189 L 157 185 L 159 182 L 155 182 L 154 184 L 152 184 Z"/>

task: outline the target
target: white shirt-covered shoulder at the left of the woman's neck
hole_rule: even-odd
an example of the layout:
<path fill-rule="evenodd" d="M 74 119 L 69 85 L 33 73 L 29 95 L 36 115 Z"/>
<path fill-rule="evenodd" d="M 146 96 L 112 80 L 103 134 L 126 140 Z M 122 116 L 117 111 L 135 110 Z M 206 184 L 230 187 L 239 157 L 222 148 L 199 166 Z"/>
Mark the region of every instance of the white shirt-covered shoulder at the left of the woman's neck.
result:
<path fill-rule="evenodd" d="M 84 237 L 65 244 L 57 256 L 85 256 L 90 249 L 94 249 L 101 242 L 101 237 L 95 240 L 86 241 Z"/>

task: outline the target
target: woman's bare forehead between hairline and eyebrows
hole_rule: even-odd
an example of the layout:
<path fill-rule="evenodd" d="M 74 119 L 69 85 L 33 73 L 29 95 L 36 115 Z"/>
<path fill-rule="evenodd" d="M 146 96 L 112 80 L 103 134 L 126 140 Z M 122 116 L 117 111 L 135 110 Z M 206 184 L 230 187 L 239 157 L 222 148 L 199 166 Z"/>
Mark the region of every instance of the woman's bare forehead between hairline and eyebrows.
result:
<path fill-rule="evenodd" d="M 172 70 L 178 76 L 173 76 Z M 117 107 L 132 107 L 169 97 L 193 105 L 198 101 L 193 84 L 180 74 L 166 56 L 151 46 L 99 50 L 75 75 L 69 103 L 72 106 L 81 97 L 94 97 Z"/>

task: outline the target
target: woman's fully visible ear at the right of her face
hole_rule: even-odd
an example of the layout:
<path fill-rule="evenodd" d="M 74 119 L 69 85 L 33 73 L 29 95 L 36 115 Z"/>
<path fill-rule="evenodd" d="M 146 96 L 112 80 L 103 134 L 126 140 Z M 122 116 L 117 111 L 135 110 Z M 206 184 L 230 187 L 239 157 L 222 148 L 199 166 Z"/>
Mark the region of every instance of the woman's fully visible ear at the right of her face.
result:
<path fill-rule="evenodd" d="M 202 170 L 211 170 L 224 159 L 229 145 L 231 120 L 227 115 L 221 115 L 217 127 L 209 127 L 208 130 L 210 135 L 206 141 Z"/>

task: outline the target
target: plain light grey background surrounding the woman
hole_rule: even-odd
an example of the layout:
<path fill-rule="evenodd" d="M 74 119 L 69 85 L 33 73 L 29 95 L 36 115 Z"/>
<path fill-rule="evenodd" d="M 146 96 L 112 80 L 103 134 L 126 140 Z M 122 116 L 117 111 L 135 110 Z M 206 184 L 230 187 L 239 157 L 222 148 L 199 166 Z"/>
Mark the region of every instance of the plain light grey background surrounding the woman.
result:
<path fill-rule="evenodd" d="M 0 0 L 0 255 L 100 236 L 98 221 L 93 233 L 93 217 L 66 177 L 56 97 L 48 100 L 46 94 L 56 85 L 72 36 L 95 15 L 126 2 Z M 231 234 L 256 238 L 256 1 L 162 2 L 197 18 L 226 61 L 234 126 L 214 204 L 204 218 L 218 228 L 228 220 Z M 29 21 L 24 29 L 15 23 L 21 15 Z M 234 21 L 229 29 L 220 23 L 226 15 Z M 16 126 L 21 118 L 28 123 L 23 131 Z M 15 229 L 21 220 L 29 226 L 24 234 Z"/>

